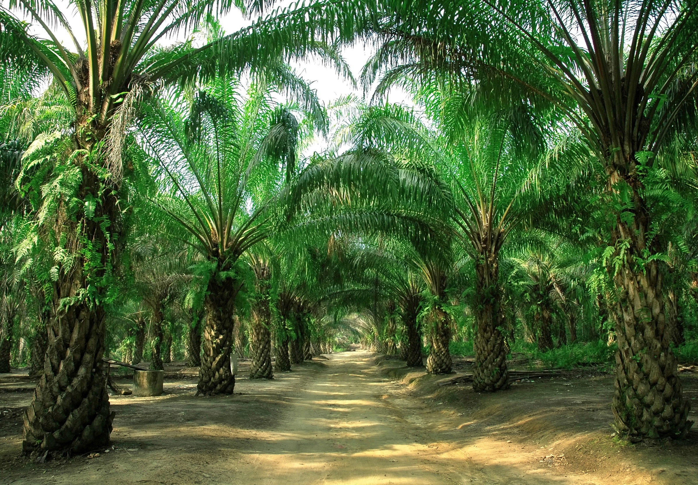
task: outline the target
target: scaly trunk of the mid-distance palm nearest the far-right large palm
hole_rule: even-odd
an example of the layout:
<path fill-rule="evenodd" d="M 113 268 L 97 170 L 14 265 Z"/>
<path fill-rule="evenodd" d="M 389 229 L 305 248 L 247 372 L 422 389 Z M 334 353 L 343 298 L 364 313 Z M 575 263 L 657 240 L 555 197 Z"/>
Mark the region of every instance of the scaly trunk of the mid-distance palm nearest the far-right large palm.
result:
<path fill-rule="evenodd" d="M 475 367 L 473 368 L 473 389 L 475 391 L 498 391 L 509 387 L 507 369 L 507 345 L 500 331 L 501 294 L 498 286 L 498 260 L 489 264 L 478 262 L 475 288 Z"/>

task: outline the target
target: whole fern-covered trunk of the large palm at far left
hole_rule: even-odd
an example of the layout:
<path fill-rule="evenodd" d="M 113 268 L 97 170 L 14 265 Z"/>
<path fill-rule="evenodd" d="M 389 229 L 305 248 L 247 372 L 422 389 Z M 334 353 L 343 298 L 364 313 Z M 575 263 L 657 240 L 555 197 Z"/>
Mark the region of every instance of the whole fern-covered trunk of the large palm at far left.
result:
<path fill-rule="evenodd" d="M 88 91 L 83 89 L 77 96 L 75 142 L 78 149 L 99 161 L 99 143 L 105 140 L 110 121 L 109 117 L 105 124 L 95 121 L 95 113 L 89 110 Z M 91 204 L 84 204 L 72 217 L 59 209 L 52 227 L 60 232 L 59 239 L 72 241 L 67 245 L 73 244 L 70 251 L 77 251 L 72 268 L 59 268 L 59 279 L 54 283 L 55 307 L 47 325 L 47 362 L 24 412 L 25 453 L 37 449 L 82 453 L 103 447 L 109 442 L 115 414 L 109 408 L 102 360 L 105 311 L 101 297 L 107 290 L 104 282 L 110 281 L 115 248 L 121 244 L 119 187 L 103 179 L 100 170 L 84 163 L 84 159 L 77 158 L 74 163 L 82 175 L 74 196 Z M 89 207 L 94 210 L 86 212 Z M 83 273 L 87 267 L 89 271 Z"/>

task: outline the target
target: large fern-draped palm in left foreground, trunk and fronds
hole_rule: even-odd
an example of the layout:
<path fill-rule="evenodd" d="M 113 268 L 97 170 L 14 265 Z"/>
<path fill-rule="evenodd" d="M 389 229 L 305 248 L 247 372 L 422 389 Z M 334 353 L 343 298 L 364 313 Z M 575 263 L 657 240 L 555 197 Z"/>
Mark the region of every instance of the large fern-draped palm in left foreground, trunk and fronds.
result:
<path fill-rule="evenodd" d="M 77 248 L 57 244 L 57 251 L 70 251 L 70 258 L 57 264 L 59 278 L 54 282 L 56 298 L 53 303 L 59 311 L 52 313 L 55 315 L 52 327 L 57 334 L 69 328 L 73 330 L 68 334 L 84 336 L 84 342 L 70 352 L 77 359 L 75 362 L 80 362 L 84 368 L 69 361 L 61 367 L 74 369 L 68 380 L 61 378 L 61 382 L 73 382 L 73 387 L 84 389 L 84 393 L 80 398 L 75 395 L 72 399 L 61 399 L 61 410 L 52 408 L 67 388 L 65 385 L 50 387 L 55 375 L 50 377 L 49 384 L 43 385 L 40 391 L 43 401 L 32 402 L 25 420 L 24 449 L 27 452 L 38 446 L 46 451 L 72 449 L 78 452 L 108 441 L 112 413 L 106 391 L 101 392 L 103 378 L 86 380 L 83 376 L 92 375 L 93 368 L 98 375 L 103 370 L 103 302 L 111 297 L 112 267 L 117 261 L 114 239 L 120 230 L 121 152 L 138 101 L 156 85 L 210 79 L 220 70 L 240 73 L 265 66 L 267 74 L 274 77 L 275 66 L 280 66 L 279 61 L 285 54 L 298 56 L 316 52 L 325 59 L 339 61 L 336 50 L 327 45 L 305 43 L 302 48 L 291 50 L 289 44 L 279 39 L 267 38 L 260 42 L 255 38 L 251 42 L 248 29 L 221 36 L 215 23 L 201 47 L 195 47 L 191 37 L 170 47 L 159 45 L 170 36 L 187 36 L 198 31 L 211 15 L 228 13 L 233 6 L 252 15 L 260 12 L 267 2 L 216 3 L 214 6 L 213 3 L 181 0 L 99 0 L 70 4 L 80 14 L 84 43 L 70 28 L 61 8 L 51 0 L 13 0 L 10 1 L 11 10 L 0 10 L 3 64 L 11 62 L 13 69 L 16 66 L 25 71 L 50 73 L 73 107 L 74 124 L 62 131 L 71 138 L 75 151 L 73 156 L 63 159 L 61 170 L 54 173 L 55 181 L 60 181 L 61 177 L 66 179 L 66 175 L 70 181 L 54 198 L 67 194 L 66 197 L 81 201 L 66 206 L 50 200 L 45 204 L 48 214 L 43 222 L 51 218 L 52 223 L 58 222 L 58 242 L 79 239 Z M 43 38 L 31 35 L 29 24 L 22 22 L 13 11 L 38 24 L 45 34 Z M 56 29 L 68 33 L 74 45 L 63 45 Z M 337 65 L 347 72 L 341 61 Z M 281 86 L 292 87 L 293 80 L 286 78 L 286 73 L 288 71 L 283 68 L 276 69 L 276 81 Z M 84 237 L 81 239 L 78 234 Z M 88 271 L 73 270 L 87 268 L 85 265 L 90 268 Z M 97 342 L 94 349 L 89 343 L 93 338 Z M 57 348 L 57 352 L 65 354 L 64 348 Z M 83 359 L 83 353 L 89 359 Z M 52 372 L 58 373 L 58 367 Z M 53 397 L 49 399 L 48 395 Z M 80 407 L 83 399 L 90 404 Z M 67 417 L 75 410 L 82 413 L 80 428 L 89 432 L 81 434 L 82 431 L 73 430 L 73 424 L 70 430 L 66 427 Z M 42 424 L 47 422 L 51 424 Z"/>

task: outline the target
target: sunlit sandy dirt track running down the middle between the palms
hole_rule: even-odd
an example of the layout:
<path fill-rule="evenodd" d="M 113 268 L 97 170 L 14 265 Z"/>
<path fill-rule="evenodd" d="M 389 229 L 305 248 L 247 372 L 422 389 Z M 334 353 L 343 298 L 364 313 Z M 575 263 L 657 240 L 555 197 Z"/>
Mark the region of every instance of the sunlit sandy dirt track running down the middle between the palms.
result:
<path fill-rule="evenodd" d="M 269 436 L 248 453 L 246 484 L 587 484 L 586 477 L 546 477 L 533 447 L 456 429 L 445 416 L 391 382 L 369 352 L 329 355 Z M 530 449 L 528 449 L 530 448 Z"/>

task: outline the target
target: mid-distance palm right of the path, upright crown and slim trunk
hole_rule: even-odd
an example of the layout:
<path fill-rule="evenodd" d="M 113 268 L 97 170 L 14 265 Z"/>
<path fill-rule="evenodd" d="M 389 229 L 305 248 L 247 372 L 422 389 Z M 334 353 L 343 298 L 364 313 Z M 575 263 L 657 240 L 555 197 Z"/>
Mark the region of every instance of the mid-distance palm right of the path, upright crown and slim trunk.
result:
<path fill-rule="evenodd" d="M 521 193 L 535 167 L 530 156 L 517 153 L 515 134 L 500 119 L 474 121 L 459 133 L 460 143 L 442 171 L 454 185 L 454 223 L 459 241 L 475 262 L 475 368 L 473 389 L 508 387 L 507 345 L 502 334 L 503 295 L 499 255 L 522 216 L 532 213 Z"/>

